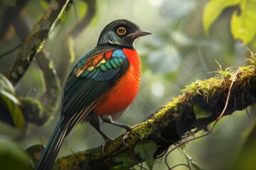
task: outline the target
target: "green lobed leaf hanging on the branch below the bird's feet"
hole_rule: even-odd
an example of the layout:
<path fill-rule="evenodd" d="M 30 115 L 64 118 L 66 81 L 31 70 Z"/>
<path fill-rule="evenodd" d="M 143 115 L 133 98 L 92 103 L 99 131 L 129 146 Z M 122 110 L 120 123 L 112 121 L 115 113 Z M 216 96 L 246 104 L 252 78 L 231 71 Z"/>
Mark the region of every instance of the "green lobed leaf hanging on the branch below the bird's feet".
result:
<path fill-rule="evenodd" d="M 157 150 L 157 145 L 152 140 L 146 140 L 137 143 L 134 147 L 134 152 L 139 154 L 139 157 L 145 160 L 146 165 L 149 169 L 153 169 L 154 165 L 154 152 Z"/>

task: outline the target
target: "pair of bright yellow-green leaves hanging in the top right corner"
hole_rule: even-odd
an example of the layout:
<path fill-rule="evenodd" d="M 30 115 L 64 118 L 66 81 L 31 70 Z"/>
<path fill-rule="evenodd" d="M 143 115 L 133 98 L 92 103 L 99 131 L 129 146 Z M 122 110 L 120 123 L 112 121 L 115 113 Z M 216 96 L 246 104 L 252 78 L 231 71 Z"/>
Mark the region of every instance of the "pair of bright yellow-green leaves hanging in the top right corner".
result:
<path fill-rule="evenodd" d="M 241 40 L 244 44 L 255 37 L 256 1 L 255 0 L 211 0 L 206 4 L 203 12 L 203 29 L 206 35 L 210 26 L 217 20 L 220 14 L 228 7 L 238 6 L 233 12 L 230 30 L 235 40 Z"/>

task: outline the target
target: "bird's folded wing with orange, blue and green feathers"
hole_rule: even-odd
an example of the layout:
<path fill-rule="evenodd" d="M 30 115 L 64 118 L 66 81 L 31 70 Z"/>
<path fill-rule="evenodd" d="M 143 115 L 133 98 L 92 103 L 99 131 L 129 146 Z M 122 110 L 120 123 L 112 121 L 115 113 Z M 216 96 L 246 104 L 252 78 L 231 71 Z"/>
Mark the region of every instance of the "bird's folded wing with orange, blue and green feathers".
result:
<path fill-rule="evenodd" d="M 95 47 L 75 65 L 65 84 L 62 116 L 65 125 L 74 127 L 97 105 L 129 62 L 122 49 Z"/>

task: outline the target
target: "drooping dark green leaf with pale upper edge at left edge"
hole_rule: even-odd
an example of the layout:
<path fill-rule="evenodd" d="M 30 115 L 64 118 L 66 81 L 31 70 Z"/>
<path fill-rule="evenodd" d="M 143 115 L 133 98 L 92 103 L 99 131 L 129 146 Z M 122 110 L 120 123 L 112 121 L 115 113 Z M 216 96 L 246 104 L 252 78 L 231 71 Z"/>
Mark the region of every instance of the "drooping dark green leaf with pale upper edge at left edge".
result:
<path fill-rule="evenodd" d="M 20 130 L 24 126 L 24 118 L 21 112 L 21 109 L 18 107 L 18 100 L 12 94 L 9 94 L 7 91 L 1 89 L 0 86 L 0 102 L 5 106 L 9 114 L 11 115 L 12 120 L 14 121 L 14 126 Z"/>

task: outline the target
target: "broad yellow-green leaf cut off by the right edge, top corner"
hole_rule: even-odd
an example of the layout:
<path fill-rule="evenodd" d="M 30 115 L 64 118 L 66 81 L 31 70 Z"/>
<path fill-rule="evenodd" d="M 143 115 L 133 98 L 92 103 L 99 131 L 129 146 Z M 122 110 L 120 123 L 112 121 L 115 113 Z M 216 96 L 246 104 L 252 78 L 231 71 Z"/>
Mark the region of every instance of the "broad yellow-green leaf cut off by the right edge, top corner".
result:
<path fill-rule="evenodd" d="M 231 33 L 235 40 L 247 44 L 256 34 L 256 1 L 241 1 L 239 9 L 234 11 L 231 18 Z"/>

